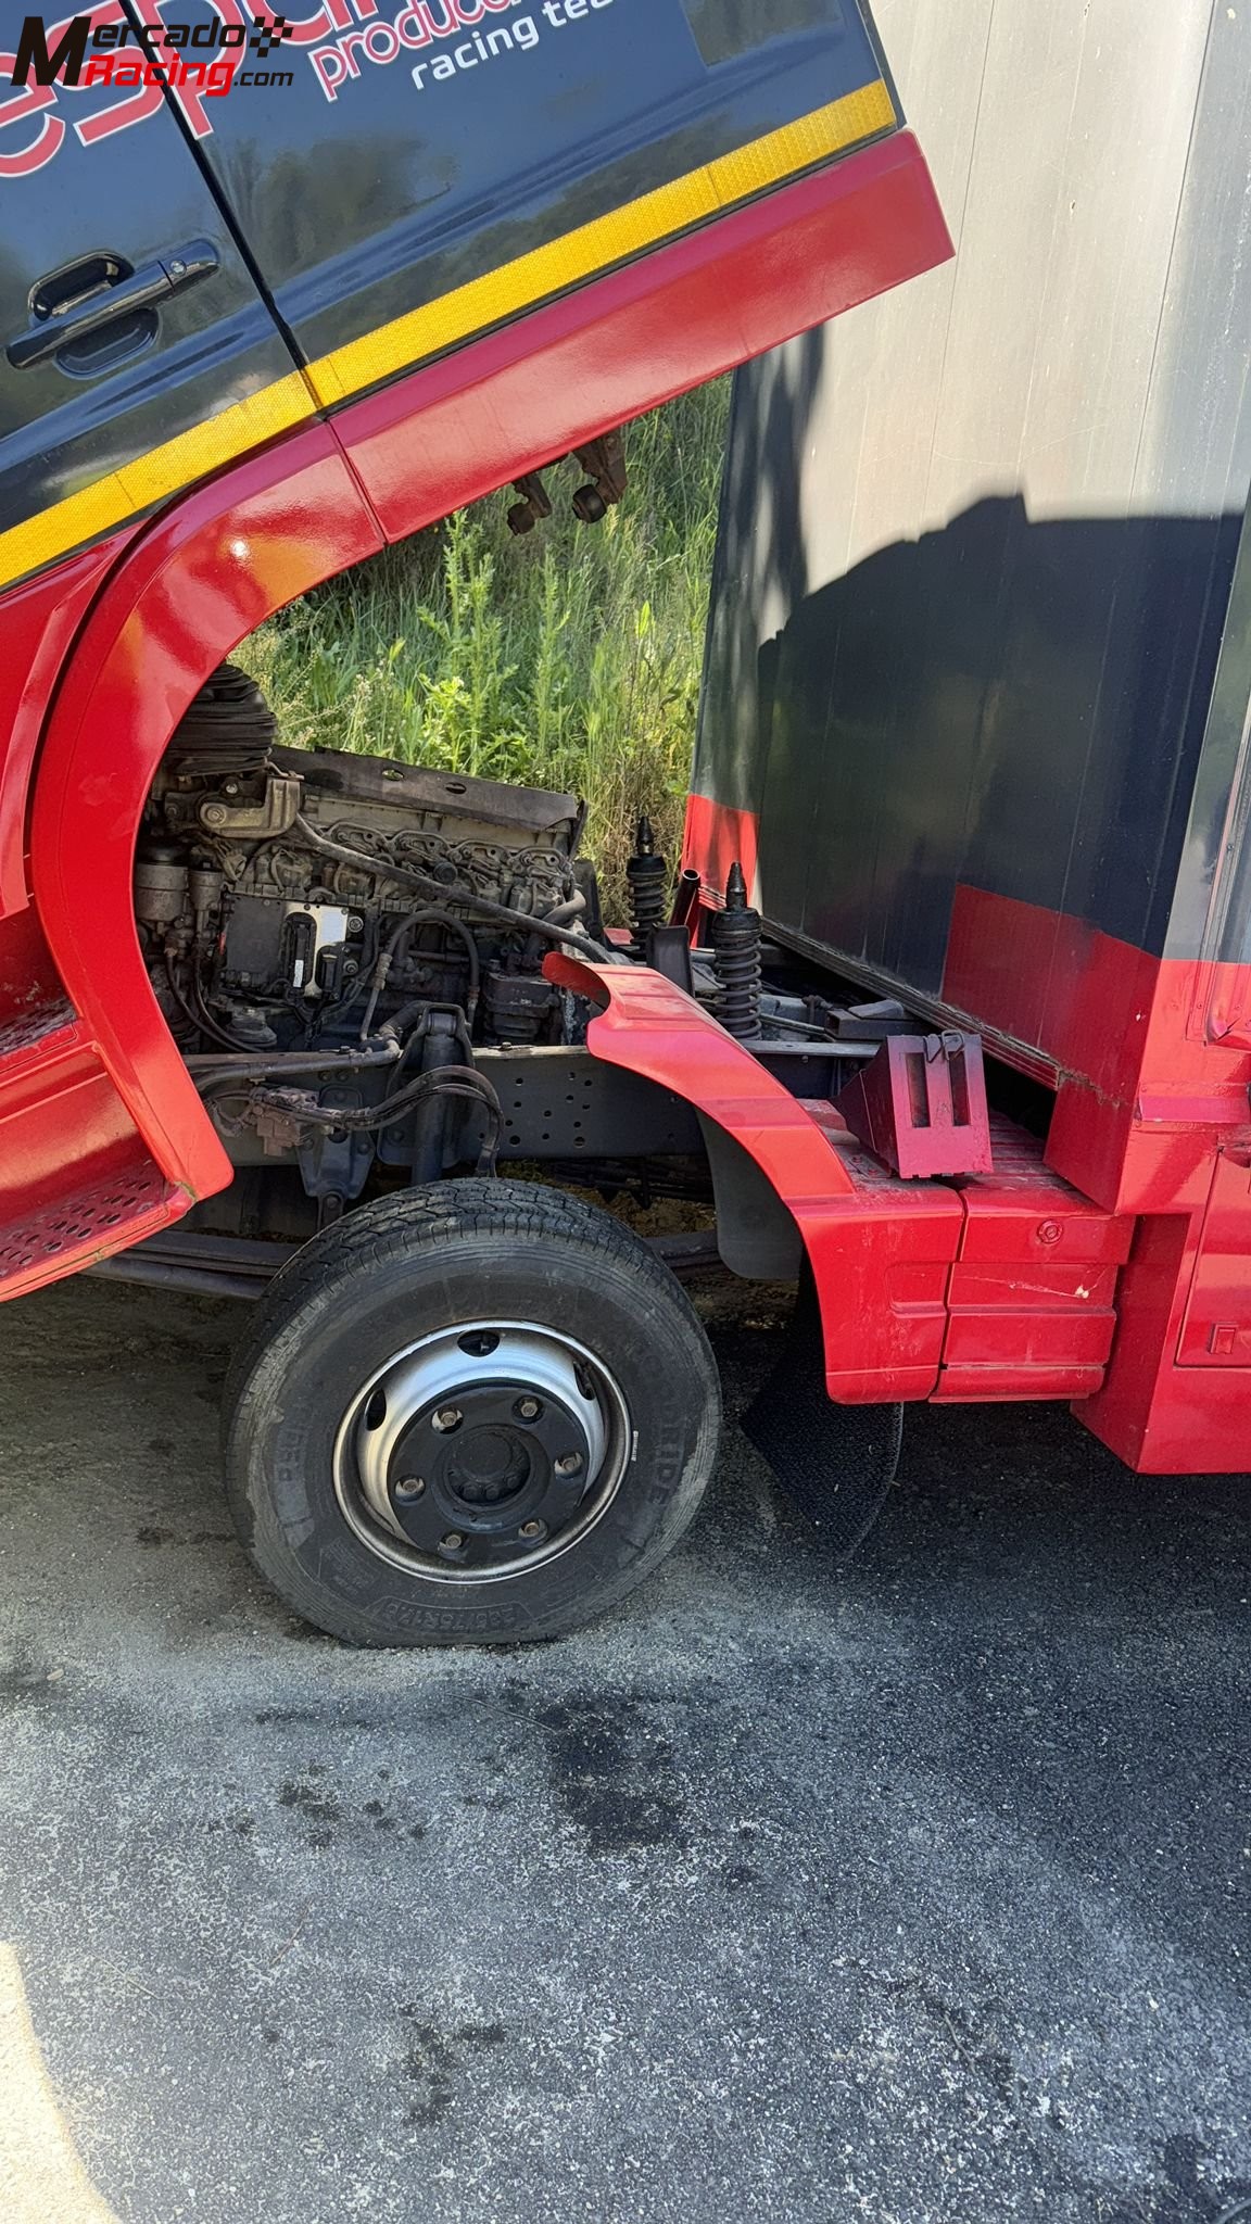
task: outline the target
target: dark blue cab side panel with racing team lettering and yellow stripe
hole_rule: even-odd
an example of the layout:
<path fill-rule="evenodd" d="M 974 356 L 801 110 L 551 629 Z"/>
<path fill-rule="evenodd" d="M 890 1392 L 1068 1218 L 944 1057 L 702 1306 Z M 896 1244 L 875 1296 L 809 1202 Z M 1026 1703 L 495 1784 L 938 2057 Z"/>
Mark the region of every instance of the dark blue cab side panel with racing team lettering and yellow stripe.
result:
<path fill-rule="evenodd" d="M 855 0 L 283 13 L 198 156 L 329 407 L 897 127 Z"/>

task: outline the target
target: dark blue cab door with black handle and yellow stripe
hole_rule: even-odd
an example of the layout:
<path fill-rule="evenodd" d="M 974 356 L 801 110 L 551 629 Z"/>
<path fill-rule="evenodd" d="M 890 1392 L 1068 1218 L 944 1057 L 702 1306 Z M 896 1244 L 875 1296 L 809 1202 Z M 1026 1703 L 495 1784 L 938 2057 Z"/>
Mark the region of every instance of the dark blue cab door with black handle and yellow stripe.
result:
<path fill-rule="evenodd" d="M 156 4 L 145 4 L 145 18 Z M 122 0 L 38 18 L 49 85 L 0 29 L 0 592 L 314 411 L 191 153 L 196 116 L 116 40 Z M 120 82 L 89 82 L 111 53 Z M 78 76 L 78 82 L 67 78 Z"/>

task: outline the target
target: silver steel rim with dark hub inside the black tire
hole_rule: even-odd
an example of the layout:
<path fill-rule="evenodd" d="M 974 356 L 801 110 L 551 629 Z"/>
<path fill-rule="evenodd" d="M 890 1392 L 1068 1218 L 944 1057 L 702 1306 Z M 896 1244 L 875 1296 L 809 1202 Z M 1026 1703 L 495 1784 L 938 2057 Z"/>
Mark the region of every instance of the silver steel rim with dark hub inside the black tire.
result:
<path fill-rule="evenodd" d="M 394 1352 L 356 1390 L 334 1439 L 334 1495 L 390 1566 L 490 1583 L 581 1543 L 630 1452 L 630 1410 L 603 1359 L 534 1321 L 465 1321 Z"/>

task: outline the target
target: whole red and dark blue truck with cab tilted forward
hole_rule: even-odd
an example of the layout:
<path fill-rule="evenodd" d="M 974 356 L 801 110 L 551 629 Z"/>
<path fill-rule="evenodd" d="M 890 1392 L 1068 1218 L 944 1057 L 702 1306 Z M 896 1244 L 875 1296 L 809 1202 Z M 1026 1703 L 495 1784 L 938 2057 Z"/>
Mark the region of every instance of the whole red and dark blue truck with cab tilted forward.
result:
<path fill-rule="evenodd" d="M 1160 371 L 1191 316 L 1206 447 L 1109 389 L 1111 532 L 1037 556 L 986 240 L 1031 160 L 1046 231 L 1080 138 L 971 105 L 959 24 L 910 42 L 957 265 L 853 0 L 98 0 L 0 53 L 0 1292 L 258 1297 L 227 1488 L 321 1628 L 550 1637 L 672 1548 L 717 1370 L 570 1194 L 641 1161 L 799 1283 L 750 1426 L 839 1541 L 908 1401 L 1251 1463 L 1235 102 L 1175 16 L 1113 338 L 1155 318 Z M 528 529 L 570 454 L 594 523 L 619 427 L 755 358 L 683 870 L 643 830 L 630 936 L 574 796 L 283 747 L 229 663 L 272 612 L 501 487 Z"/>

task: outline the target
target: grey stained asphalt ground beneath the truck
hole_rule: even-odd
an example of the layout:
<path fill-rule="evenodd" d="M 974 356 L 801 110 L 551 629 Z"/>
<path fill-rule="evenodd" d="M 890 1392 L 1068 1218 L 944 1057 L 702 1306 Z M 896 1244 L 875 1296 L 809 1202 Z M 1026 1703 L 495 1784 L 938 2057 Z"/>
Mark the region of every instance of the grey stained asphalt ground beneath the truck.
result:
<path fill-rule="evenodd" d="M 1251 2197 L 1244 1481 L 922 1412 L 839 1572 L 730 1432 L 612 1624 L 354 1655 L 229 1535 L 236 1326 L 82 1281 L 0 1312 L 0 2186 L 56 2093 L 100 2195 L 40 2215 L 9 2157 L 4 2224 Z M 766 1354 L 723 1339 L 735 1390 Z"/>

